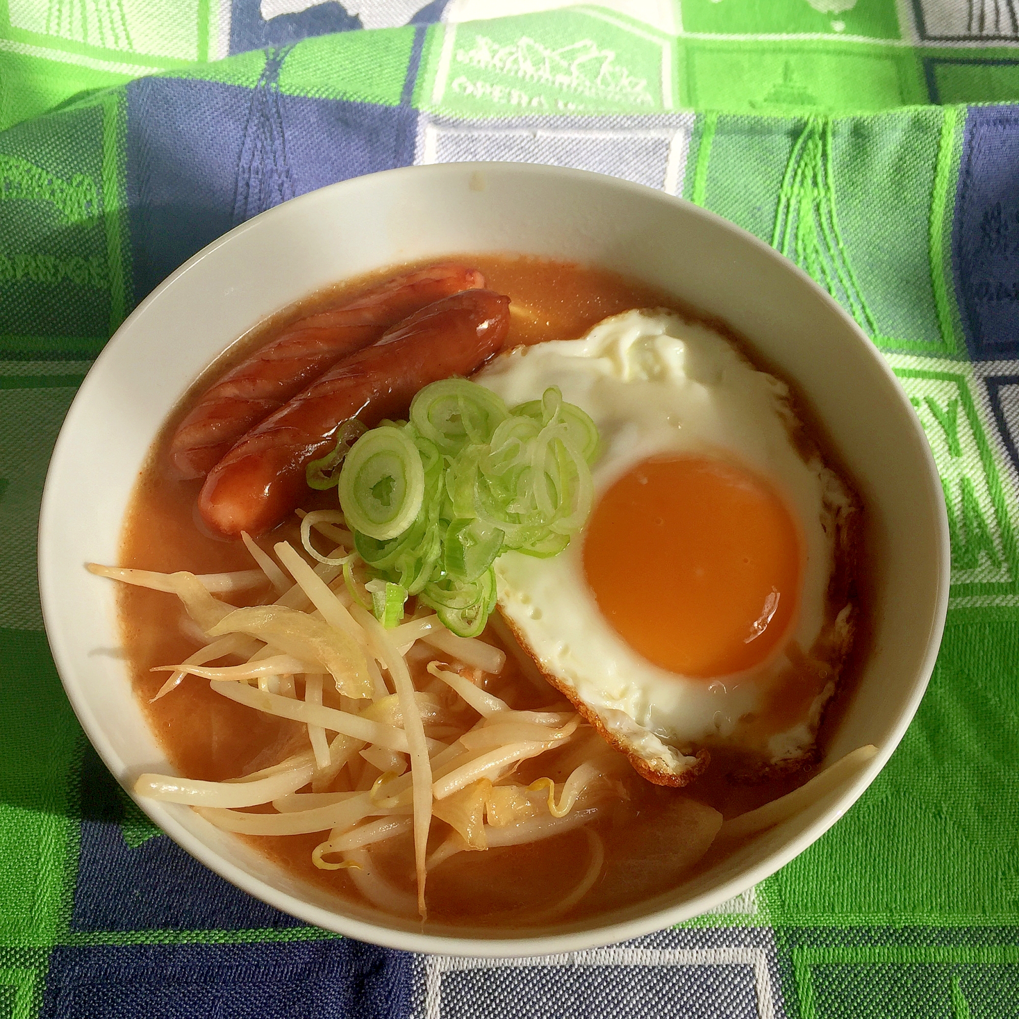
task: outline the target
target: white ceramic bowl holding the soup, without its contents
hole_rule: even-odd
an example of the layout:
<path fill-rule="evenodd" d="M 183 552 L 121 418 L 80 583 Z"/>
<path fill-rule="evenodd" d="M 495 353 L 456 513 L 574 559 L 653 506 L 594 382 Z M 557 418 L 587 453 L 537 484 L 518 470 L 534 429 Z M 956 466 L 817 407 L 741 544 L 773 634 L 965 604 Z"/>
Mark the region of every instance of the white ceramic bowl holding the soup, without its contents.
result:
<path fill-rule="evenodd" d="M 565 952 L 688 919 L 775 871 L 853 804 L 891 756 L 933 667 L 948 600 L 941 483 L 919 421 L 880 355 L 803 272 L 709 212 L 575 170 L 521 164 L 411 167 L 325 187 L 220 237 L 154 290 L 85 380 L 43 498 L 39 575 L 67 696 L 126 788 L 166 757 L 143 720 L 118 643 L 114 585 L 87 560 L 117 559 L 131 486 L 163 419 L 199 372 L 260 319 L 324 284 L 410 260 L 520 252 L 598 264 L 725 319 L 812 404 L 859 484 L 874 556 L 872 650 L 827 746 L 877 755 L 845 788 L 762 834 L 679 891 L 604 920 L 514 930 L 429 929 L 343 906 L 187 807 L 141 801 L 187 852 L 252 895 L 331 930 L 457 955 Z"/>

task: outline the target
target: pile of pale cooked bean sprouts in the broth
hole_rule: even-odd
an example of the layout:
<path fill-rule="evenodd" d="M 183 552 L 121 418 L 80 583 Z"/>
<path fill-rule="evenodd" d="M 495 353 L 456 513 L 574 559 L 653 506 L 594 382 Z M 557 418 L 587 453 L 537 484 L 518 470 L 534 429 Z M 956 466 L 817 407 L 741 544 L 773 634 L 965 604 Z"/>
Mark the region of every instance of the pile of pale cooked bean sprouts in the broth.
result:
<path fill-rule="evenodd" d="M 505 663 L 499 648 L 455 636 L 423 606 L 384 628 L 359 604 L 370 592 L 350 570 L 353 536 L 343 523 L 338 511 L 304 515 L 305 545 L 312 530 L 336 544 L 322 556 L 331 561 L 315 566 L 286 541 L 275 544 L 274 559 L 245 535 L 258 569 L 201 577 L 89 569 L 182 603 L 202 646 L 157 666 L 170 675 L 156 698 L 196 677 L 220 696 L 307 727 L 307 749 L 270 767 L 226 782 L 143 774 L 135 793 L 189 804 L 242 835 L 323 833 L 315 866 L 346 868 L 373 904 L 405 915 L 416 906 L 424 919 L 429 870 L 459 853 L 588 824 L 626 798 L 629 765 L 540 677 L 549 699 L 541 710 L 514 710 L 489 693 L 486 680 Z M 237 608 L 215 596 L 258 585 L 271 590 L 261 604 Z M 558 751 L 547 776 L 528 784 L 516 776 L 521 762 Z M 264 804 L 274 812 L 247 809 Z M 412 833 L 416 903 L 371 859 L 373 847 Z M 583 876 L 548 915 L 579 902 L 601 872 L 601 840 L 590 828 L 586 836 Z"/>

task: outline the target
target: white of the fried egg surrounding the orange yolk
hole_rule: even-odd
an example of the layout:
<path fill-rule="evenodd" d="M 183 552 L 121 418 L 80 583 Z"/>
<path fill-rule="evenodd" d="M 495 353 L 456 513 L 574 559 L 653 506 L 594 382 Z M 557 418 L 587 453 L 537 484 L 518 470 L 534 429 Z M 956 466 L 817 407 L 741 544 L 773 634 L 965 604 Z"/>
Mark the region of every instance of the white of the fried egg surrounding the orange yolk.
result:
<path fill-rule="evenodd" d="M 788 639 L 805 651 L 814 644 L 834 564 L 833 505 L 847 496 L 819 459 L 806 462 L 797 450 L 785 383 L 756 370 L 718 333 L 663 310 L 605 319 L 582 339 L 518 347 L 476 381 L 511 407 L 556 385 L 591 416 L 601 437 L 595 502 L 635 465 L 661 453 L 721 454 L 769 478 L 799 521 L 806 551 Z M 634 596 L 654 598 L 654 564 L 632 568 Z M 543 672 L 572 688 L 639 756 L 667 768 L 689 764 L 685 755 L 698 748 L 738 744 L 740 720 L 761 707 L 788 667 L 782 651 L 713 680 L 648 661 L 601 614 L 585 579 L 583 534 L 551 558 L 504 553 L 495 573 L 499 607 Z M 816 718 L 804 718 L 771 734 L 768 755 L 802 753 L 815 729 Z"/>

